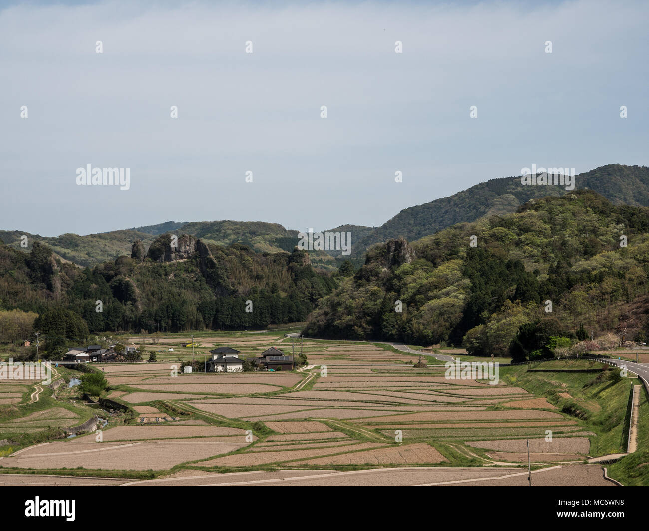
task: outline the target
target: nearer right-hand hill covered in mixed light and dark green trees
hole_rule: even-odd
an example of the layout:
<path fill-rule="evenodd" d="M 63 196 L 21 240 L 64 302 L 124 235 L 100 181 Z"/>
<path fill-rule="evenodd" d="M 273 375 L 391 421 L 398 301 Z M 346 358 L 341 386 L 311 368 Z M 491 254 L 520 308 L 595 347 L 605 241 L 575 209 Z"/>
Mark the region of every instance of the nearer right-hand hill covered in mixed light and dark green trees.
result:
<path fill-rule="evenodd" d="M 582 325 L 588 335 L 620 326 L 649 333 L 648 232 L 646 207 L 614 206 L 582 190 L 412 244 L 389 241 L 320 301 L 305 333 L 464 344 L 496 356 L 525 324 L 559 335 Z"/>

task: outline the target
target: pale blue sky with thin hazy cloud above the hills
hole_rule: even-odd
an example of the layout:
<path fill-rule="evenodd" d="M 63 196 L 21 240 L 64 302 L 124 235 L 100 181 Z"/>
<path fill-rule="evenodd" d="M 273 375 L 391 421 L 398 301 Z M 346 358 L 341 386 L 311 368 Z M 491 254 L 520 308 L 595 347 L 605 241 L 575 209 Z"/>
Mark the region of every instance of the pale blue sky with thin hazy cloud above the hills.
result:
<path fill-rule="evenodd" d="M 0 230 L 380 226 L 533 163 L 649 165 L 648 21 L 644 1 L 3 2 Z M 88 164 L 129 189 L 79 185 Z"/>

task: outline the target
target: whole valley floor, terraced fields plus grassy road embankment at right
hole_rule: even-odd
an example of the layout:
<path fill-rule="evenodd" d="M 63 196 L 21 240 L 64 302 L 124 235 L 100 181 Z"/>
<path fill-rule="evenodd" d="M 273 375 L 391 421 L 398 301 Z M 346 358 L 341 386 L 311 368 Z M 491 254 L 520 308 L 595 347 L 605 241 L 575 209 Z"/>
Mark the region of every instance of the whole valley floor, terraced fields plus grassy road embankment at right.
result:
<path fill-rule="evenodd" d="M 214 345 L 242 355 L 269 346 L 291 353 L 293 340 L 263 332 L 201 341 L 199 359 Z M 413 368 L 419 355 L 410 348 L 304 340 L 303 349 L 309 365 L 294 372 L 175 376 L 178 353 L 157 363 L 100 365 L 108 397 L 134 419 L 114 415 L 101 432 L 0 447 L 0 483 L 528 485 L 529 441 L 533 485 L 616 484 L 605 477 L 609 464 L 587 460 L 626 452 L 628 398 L 638 381 L 593 382 L 602 364 L 503 367 L 490 385 L 447 379 L 435 359 Z M 187 356 L 191 349 L 180 355 Z M 71 396 L 42 394 L 41 410 L 0 422 L 0 438 L 14 426 L 36 431 L 88 416 Z M 642 447 L 644 392 L 636 407 Z"/>

